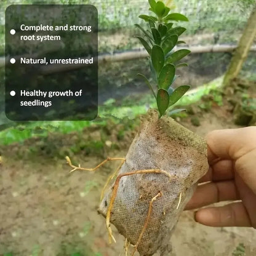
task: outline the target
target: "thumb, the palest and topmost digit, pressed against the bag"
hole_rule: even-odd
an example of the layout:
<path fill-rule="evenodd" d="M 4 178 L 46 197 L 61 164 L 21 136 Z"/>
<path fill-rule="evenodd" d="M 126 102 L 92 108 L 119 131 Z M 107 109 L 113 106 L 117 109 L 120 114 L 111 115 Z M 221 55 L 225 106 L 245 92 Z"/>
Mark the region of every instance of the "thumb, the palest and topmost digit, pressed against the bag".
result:
<path fill-rule="evenodd" d="M 214 130 L 206 135 L 208 161 L 211 165 L 217 158 L 241 158 L 252 151 L 256 143 L 256 127 L 240 129 Z"/>

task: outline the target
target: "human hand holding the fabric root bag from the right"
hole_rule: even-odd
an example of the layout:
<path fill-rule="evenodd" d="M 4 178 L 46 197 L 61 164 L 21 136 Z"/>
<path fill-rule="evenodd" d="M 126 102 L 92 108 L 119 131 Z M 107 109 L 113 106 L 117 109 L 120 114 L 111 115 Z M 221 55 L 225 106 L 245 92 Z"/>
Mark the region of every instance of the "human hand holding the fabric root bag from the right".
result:
<path fill-rule="evenodd" d="M 207 226 L 256 228 L 256 126 L 214 130 L 206 136 L 209 171 L 199 180 L 185 210 L 220 201 L 222 207 L 199 209 L 196 222 Z"/>

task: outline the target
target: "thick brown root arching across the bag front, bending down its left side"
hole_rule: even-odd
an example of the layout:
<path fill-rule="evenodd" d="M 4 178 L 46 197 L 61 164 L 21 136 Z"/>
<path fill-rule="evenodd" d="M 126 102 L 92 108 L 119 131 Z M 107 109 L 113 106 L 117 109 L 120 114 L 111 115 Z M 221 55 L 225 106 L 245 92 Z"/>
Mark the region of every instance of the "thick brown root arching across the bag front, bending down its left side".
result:
<path fill-rule="evenodd" d="M 113 205 L 114 205 L 114 199 L 116 199 L 116 194 L 118 193 L 119 182 L 122 177 L 134 175 L 134 174 L 164 174 L 167 177 L 169 177 L 170 180 L 175 178 L 175 176 L 170 175 L 165 170 L 159 170 L 159 169 L 135 170 L 133 172 L 126 172 L 125 174 L 118 175 L 118 177 L 116 178 L 116 181 L 114 182 L 113 192 L 110 198 L 110 205 L 108 206 L 108 211 L 106 212 L 106 228 L 108 230 L 108 239 L 110 244 L 112 242 L 112 239 L 114 242 L 116 242 L 116 239 L 114 239 L 111 226 L 110 226 L 110 216 L 111 216 L 111 210 L 113 209 Z"/>

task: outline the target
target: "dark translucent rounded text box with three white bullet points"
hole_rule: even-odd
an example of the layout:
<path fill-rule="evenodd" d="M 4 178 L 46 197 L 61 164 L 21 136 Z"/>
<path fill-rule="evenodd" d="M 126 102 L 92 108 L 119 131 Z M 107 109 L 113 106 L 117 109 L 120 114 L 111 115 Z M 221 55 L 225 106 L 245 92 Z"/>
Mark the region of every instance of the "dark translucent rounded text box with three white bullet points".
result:
<path fill-rule="evenodd" d="M 92 5 L 6 9 L 6 116 L 92 120 L 98 110 L 98 14 Z"/>

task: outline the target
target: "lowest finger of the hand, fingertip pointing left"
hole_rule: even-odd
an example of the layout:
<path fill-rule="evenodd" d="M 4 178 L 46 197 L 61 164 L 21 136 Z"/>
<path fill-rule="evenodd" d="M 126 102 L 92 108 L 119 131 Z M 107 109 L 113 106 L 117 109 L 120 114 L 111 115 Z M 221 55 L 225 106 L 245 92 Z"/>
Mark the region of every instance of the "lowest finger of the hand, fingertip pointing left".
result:
<path fill-rule="evenodd" d="M 242 202 L 201 209 L 196 212 L 195 220 L 206 226 L 252 226 Z"/>

